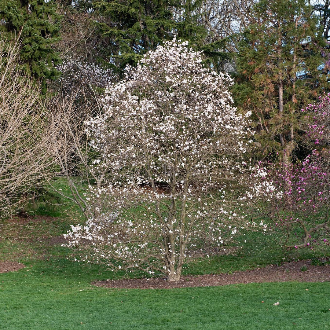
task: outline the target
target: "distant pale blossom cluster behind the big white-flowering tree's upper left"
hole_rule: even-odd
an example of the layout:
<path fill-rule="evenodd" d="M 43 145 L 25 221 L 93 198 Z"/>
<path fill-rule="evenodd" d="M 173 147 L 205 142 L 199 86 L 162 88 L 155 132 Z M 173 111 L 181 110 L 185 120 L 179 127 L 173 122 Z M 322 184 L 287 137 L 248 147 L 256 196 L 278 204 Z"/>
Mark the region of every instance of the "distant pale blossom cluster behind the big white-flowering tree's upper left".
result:
<path fill-rule="evenodd" d="M 99 64 L 89 63 L 74 56 L 65 58 L 56 69 L 62 73 L 59 82 L 68 94 L 78 93 L 86 88 L 86 84 L 105 88 L 115 78 L 112 69 L 105 69 Z"/>

